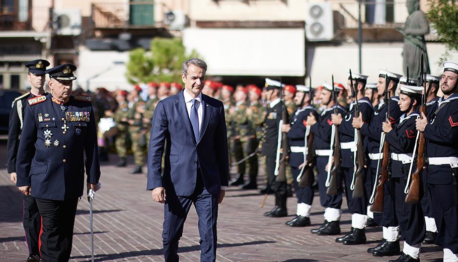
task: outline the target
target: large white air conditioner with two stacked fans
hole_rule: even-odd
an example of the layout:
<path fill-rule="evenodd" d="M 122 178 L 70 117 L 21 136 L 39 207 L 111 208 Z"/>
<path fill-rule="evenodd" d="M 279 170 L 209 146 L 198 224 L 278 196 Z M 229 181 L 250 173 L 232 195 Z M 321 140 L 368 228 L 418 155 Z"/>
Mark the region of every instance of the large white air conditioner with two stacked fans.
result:
<path fill-rule="evenodd" d="M 334 38 L 331 3 L 311 3 L 307 5 L 306 37 L 309 41 L 329 41 Z"/>

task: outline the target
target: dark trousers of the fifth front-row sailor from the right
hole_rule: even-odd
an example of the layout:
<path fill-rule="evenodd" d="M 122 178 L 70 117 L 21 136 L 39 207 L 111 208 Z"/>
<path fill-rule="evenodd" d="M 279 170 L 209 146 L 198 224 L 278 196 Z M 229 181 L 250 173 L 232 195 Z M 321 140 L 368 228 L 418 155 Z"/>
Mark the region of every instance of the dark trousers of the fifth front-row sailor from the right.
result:
<path fill-rule="evenodd" d="M 337 194 L 328 195 L 326 191 L 326 179 L 328 178 L 328 172 L 325 170 L 326 165 L 328 164 L 328 156 L 318 156 L 317 157 L 317 168 L 318 168 L 318 189 L 320 192 L 320 203 L 322 207 L 330 207 L 335 209 L 340 209 L 342 205 L 342 178 L 338 176 L 337 178 Z"/>

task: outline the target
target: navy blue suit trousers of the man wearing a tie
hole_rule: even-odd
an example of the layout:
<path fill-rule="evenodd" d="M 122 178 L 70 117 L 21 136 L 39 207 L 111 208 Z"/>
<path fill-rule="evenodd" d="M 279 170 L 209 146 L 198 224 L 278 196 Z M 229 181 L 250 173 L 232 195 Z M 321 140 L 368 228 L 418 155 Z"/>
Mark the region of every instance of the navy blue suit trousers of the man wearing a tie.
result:
<path fill-rule="evenodd" d="M 178 241 L 183 235 L 183 225 L 192 204 L 194 204 L 199 217 L 200 261 L 215 261 L 219 196 L 208 193 L 203 186 L 200 171 L 197 173 L 196 189 L 191 196 L 177 196 L 173 192 L 166 192 L 166 194 L 162 232 L 165 261 L 175 262 L 179 260 Z"/>

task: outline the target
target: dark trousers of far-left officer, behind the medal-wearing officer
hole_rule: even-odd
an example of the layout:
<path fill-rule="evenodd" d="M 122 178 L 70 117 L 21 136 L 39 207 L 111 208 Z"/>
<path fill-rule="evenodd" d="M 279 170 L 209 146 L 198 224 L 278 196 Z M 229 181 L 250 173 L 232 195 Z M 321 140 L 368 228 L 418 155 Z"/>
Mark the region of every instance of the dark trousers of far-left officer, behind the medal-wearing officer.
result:
<path fill-rule="evenodd" d="M 26 233 L 26 243 L 29 247 L 29 254 L 39 255 L 40 247 L 38 246 L 38 239 L 41 230 L 40 212 L 38 212 L 37 202 L 34 197 L 22 196 L 24 203 L 22 223 Z"/>

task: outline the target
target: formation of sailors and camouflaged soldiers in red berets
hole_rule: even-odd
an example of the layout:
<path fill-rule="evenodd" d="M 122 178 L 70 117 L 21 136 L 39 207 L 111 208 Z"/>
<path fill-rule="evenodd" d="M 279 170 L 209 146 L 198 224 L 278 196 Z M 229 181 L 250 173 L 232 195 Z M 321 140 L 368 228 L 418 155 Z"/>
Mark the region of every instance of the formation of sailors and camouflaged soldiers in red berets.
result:
<path fill-rule="evenodd" d="M 318 88 L 268 78 L 262 88 L 206 80 L 202 93 L 224 104 L 230 160 L 237 170 L 230 186 L 258 189 L 258 173 L 264 169 L 267 183 L 260 193 L 275 195 L 274 208 L 264 213 L 268 217 L 288 215 L 286 200 L 293 188 L 296 216 L 286 221 L 292 227 L 311 225 L 318 187 L 325 212 L 324 223 L 311 230 L 317 235 L 340 234 L 345 194 L 351 228 L 336 242 L 365 243 L 365 227 L 380 225 L 383 239 L 367 250 L 374 256 L 400 254 L 394 261 L 419 261 L 421 244 L 436 243 L 444 249 L 444 261 L 458 261 L 458 64 L 443 66 L 440 77 L 422 73 L 420 80 L 408 79 L 380 70 L 371 76 L 375 84 L 367 83 L 366 75 L 350 73 L 345 86 L 334 82 Z M 107 157 L 111 139 L 119 157 L 116 165 L 126 166 L 130 144 L 135 164 L 130 173 L 142 173 L 155 107 L 181 91 L 177 82 L 136 84 L 130 92 L 97 89 L 92 94 L 94 119 L 112 118 L 117 128 L 109 138 L 99 126 L 100 160 Z M 422 105 L 425 112 L 420 112 Z M 419 201 L 405 202 L 419 159 L 418 134 L 425 148 Z M 286 152 L 282 135 L 287 137 Z M 377 209 L 372 204 L 380 195 L 383 205 Z"/>

